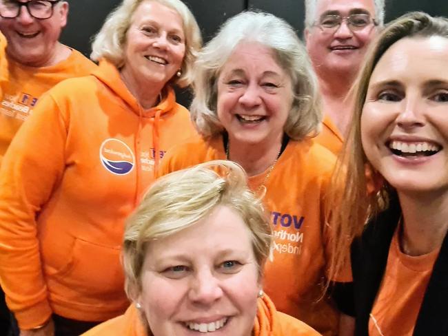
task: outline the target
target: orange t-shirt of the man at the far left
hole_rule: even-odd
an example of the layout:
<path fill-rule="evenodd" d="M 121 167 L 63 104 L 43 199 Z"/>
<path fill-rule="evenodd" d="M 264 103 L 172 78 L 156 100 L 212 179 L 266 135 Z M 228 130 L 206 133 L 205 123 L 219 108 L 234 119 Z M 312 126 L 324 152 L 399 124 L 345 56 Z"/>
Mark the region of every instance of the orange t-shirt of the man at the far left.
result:
<path fill-rule="evenodd" d="M 6 59 L 8 66 L 1 67 L 0 74 L 2 78 L 8 78 L 2 85 L 0 103 L 0 164 L 12 138 L 41 95 L 64 79 L 86 76 L 96 68 L 95 63 L 77 50 L 72 50 L 67 59 L 50 67 L 28 67 L 8 59 L 8 56 Z"/>

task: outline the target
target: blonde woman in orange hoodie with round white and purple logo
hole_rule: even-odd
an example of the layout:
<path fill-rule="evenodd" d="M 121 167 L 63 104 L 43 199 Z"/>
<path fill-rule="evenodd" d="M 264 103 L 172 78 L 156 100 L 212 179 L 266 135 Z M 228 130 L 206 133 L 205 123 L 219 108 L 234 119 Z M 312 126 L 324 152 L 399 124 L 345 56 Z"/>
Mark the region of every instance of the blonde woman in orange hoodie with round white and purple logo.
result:
<path fill-rule="evenodd" d="M 99 68 L 39 99 L 0 173 L 0 277 L 21 336 L 79 335 L 129 302 L 124 220 L 173 145 L 194 134 L 173 85 L 201 46 L 182 1 L 124 0 L 93 43 Z"/>

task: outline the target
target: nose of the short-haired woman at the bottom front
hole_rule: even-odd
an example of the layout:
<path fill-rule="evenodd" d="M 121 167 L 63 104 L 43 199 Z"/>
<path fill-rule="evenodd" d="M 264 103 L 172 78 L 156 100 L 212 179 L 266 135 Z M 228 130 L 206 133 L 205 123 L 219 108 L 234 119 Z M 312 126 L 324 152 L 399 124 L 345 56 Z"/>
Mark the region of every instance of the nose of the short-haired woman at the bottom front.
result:
<path fill-rule="evenodd" d="M 223 290 L 219 286 L 218 279 L 210 269 L 199 270 L 192 277 L 190 284 L 189 299 L 196 304 L 205 306 L 213 304 L 223 296 Z"/>

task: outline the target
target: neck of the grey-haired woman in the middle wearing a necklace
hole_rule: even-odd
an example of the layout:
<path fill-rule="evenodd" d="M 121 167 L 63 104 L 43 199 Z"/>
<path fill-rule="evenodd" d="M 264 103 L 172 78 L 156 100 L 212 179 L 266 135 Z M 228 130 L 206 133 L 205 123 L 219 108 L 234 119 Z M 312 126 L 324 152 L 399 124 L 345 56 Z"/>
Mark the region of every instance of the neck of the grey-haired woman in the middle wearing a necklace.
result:
<path fill-rule="evenodd" d="M 254 145 L 238 144 L 238 140 L 229 136 L 227 142 L 228 158 L 244 168 L 248 176 L 255 176 L 266 171 L 276 162 L 281 151 L 283 134 L 267 143 Z"/>

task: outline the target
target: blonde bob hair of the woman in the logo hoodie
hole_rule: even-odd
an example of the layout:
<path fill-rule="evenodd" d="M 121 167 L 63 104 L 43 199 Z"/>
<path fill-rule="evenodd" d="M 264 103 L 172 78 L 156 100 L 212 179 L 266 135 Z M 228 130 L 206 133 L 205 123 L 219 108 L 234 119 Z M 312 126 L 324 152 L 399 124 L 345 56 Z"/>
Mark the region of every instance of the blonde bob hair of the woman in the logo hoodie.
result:
<path fill-rule="evenodd" d="M 92 41 L 92 54 L 90 59 L 99 61 L 102 58 L 114 63 L 117 68 L 123 67 L 124 46 L 126 43 L 126 33 L 131 25 L 132 16 L 136 8 L 143 1 L 161 3 L 163 6 L 172 8 L 179 13 L 183 22 L 185 33 L 185 57 L 181 66 L 181 76 L 174 79 L 174 83 L 179 87 L 186 87 L 191 83 L 192 66 L 196 59 L 196 54 L 201 49 L 202 37 L 198 23 L 192 12 L 180 0 L 123 0 L 108 15 L 103 27 Z"/>

